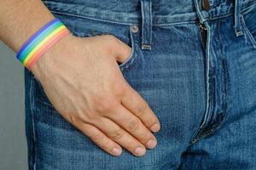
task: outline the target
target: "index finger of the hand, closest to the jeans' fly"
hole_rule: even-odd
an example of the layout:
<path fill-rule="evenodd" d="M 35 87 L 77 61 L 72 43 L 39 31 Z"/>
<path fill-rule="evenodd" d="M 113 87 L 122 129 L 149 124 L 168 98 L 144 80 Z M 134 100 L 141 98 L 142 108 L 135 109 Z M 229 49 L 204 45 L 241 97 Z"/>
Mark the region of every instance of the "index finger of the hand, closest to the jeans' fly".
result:
<path fill-rule="evenodd" d="M 128 82 L 126 83 L 128 84 Z M 129 84 L 125 86 L 125 94 L 121 99 L 121 103 L 131 113 L 138 116 L 143 124 L 152 132 L 158 132 L 160 130 L 160 122 L 154 115 L 154 112 L 149 108 L 148 103 Z"/>

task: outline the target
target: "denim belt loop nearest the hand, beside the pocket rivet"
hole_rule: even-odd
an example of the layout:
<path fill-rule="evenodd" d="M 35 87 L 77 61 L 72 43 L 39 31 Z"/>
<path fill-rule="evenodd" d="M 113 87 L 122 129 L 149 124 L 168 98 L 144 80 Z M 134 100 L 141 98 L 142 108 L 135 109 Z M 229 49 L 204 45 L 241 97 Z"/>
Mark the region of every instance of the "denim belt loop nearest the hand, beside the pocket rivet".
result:
<path fill-rule="evenodd" d="M 141 0 L 142 49 L 151 49 L 152 41 L 152 0 Z"/>

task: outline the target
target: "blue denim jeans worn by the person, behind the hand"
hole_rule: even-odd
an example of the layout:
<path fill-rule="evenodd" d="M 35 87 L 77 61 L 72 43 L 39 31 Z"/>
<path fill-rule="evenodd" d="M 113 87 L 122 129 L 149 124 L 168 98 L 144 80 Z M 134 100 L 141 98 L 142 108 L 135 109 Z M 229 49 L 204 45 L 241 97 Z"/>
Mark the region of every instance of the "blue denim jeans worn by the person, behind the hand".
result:
<path fill-rule="evenodd" d="M 30 169 L 256 169 L 256 1 L 44 3 L 74 36 L 112 34 L 131 46 L 120 71 L 161 130 L 145 156 L 111 156 L 55 111 L 25 69 Z"/>

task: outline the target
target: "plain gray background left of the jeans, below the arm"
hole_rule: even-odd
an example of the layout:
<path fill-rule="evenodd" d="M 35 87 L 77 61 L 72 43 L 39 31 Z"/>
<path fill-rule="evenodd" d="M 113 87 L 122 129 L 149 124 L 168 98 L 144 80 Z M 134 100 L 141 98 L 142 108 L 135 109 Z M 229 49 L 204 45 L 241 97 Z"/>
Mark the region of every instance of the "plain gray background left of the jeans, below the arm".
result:
<path fill-rule="evenodd" d="M 0 170 L 27 169 L 23 66 L 0 41 Z"/>

